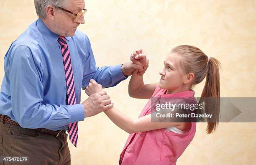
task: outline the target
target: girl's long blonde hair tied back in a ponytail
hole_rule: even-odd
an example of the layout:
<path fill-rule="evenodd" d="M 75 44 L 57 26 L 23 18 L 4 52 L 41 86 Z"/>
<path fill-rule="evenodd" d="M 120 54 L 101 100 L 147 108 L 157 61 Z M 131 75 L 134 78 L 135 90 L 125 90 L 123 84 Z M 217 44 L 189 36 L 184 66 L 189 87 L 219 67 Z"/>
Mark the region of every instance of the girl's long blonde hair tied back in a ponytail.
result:
<path fill-rule="evenodd" d="M 193 73 L 192 87 L 199 84 L 206 77 L 205 86 L 198 104 L 204 104 L 207 118 L 207 134 L 215 131 L 220 115 L 220 62 L 208 57 L 195 46 L 181 45 L 172 49 L 171 53 L 180 56 L 179 64 L 184 74 Z"/>

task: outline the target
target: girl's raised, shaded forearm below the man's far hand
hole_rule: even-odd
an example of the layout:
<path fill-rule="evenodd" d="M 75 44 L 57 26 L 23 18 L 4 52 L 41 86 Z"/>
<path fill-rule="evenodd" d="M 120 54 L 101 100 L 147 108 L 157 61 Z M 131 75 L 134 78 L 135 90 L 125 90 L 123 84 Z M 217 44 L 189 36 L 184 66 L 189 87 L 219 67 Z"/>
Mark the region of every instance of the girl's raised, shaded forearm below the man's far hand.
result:
<path fill-rule="evenodd" d="M 137 72 L 138 70 L 133 71 L 128 85 L 128 93 L 131 97 L 133 97 L 133 94 L 137 89 L 144 85 L 143 76 L 139 76 Z"/>

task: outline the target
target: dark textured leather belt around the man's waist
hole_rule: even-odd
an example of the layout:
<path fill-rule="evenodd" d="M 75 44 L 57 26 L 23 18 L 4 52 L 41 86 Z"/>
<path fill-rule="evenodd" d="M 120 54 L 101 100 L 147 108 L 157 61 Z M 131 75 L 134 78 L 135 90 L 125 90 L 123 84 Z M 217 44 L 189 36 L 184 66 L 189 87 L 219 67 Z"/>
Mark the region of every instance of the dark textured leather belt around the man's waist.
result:
<path fill-rule="evenodd" d="M 20 124 L 18 122 L 13 121 L 12 119 L 10 119 L 10 117 L 4 116 L 3 114 L 0 114 L 0 121 L 1 121 L 2 117 L 3 117 L 3 123 L 4 124 L 7 123 L 7 124 L 20 126 Z M 36 128 L 34 130 L 36 130 L 37 132 L 40 132 L 40 133 L 47 134 L 47 135 L 53 135 L 57 138 L 65 135 L 65 133 L 67 131 L 66 129 L 53 131 L 53 130 L 46 129 L 46 128 Z"/>

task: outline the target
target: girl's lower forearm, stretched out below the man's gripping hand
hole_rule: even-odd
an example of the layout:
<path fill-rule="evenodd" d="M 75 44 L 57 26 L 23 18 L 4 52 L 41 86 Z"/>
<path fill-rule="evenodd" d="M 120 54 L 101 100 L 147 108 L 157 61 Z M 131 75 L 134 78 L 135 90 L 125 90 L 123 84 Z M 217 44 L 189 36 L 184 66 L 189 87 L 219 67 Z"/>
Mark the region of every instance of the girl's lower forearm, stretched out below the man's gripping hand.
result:
<path fill-rule="evenodd" d="M 129 134 L 134 132 L 133 128 L 135 119 L 126 116 L 122 112 L 118 111 L 118 109 L 115 107 L 104 112 L 115 125 L 123 129 L 125 132 L 128 132 Z"/>

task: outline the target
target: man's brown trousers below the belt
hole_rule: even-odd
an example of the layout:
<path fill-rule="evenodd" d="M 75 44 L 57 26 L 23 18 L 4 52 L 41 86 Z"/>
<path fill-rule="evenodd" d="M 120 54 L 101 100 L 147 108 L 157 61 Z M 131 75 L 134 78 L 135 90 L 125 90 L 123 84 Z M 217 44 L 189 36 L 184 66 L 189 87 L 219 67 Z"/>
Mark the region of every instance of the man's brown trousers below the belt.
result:
<path fill-rule="evenodd" d="M 0 157 L 28 157 L 28 162 L 0 165 L 70 165 L 67 133 L 56 138 L 0 121 Z"/>

